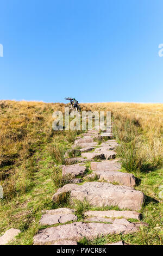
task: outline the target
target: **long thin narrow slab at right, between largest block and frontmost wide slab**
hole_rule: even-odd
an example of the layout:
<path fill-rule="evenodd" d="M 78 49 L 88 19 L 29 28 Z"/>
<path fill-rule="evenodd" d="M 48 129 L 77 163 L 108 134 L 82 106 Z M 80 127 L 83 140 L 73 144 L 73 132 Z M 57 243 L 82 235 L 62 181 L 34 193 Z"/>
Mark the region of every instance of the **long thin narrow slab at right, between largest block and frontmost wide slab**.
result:
<path fill-rule="evenodd" d="M 135 218 L 136 220 L 141 219 L 141 214 L 137 211 L 86 211 L 84 213 L 86 217 L 108 217 L 108 218 Z"/>

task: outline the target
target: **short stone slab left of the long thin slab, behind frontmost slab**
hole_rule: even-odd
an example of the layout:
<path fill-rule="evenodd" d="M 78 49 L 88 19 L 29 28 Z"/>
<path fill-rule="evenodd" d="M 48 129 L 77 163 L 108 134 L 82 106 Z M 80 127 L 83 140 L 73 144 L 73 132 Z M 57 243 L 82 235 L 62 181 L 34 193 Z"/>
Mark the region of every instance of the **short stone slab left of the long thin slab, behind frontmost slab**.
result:
<path fill-rule="evenodd" d="M 77 216 L 73 214 L 74 210 L 60 208 L 56 210 L 46 211 L 40 219 L 40 224 L 53 225 L 57 223 L 66 223 L 68 221 L 77 221 Z"/>

